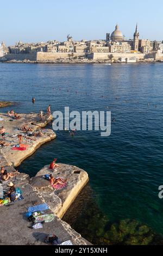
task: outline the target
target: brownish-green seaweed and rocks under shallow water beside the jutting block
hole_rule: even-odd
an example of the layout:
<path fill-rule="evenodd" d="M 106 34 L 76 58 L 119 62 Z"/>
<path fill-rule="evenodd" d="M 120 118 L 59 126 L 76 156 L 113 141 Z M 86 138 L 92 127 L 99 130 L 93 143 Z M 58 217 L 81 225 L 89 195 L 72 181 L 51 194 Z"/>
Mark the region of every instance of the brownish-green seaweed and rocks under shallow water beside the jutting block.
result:
<path fill-rule="evenodd" d="M 93 245 L 163 245 L 163 237 L 137 220 L 109 221 L 91 187 L 80 192 L 62 218 Z"/>

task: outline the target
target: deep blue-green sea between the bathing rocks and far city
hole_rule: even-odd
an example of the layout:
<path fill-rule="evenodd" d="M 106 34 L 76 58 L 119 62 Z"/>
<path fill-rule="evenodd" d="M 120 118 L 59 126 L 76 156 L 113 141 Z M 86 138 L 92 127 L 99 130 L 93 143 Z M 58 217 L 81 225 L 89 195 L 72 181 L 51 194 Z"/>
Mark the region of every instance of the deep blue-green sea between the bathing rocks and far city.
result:
<path fill-rule="evenodd" d="M 21 164 L 35 175 L 54 157 L 89 173 L 96 202 L 111 221 L 134 218 L 163 234 L 163 66 L 152 64 L 0 64 L 1 100 L 17 112 L 111 111 L 111 135 L 57 132 Z M 35 96 L 36 102 L 32 103 Z M 102 97 L 103 96 L 103 97 Z M 147 105 L 149 103 L 149 105 Z M 155 107 L 156 105 L 156 107 Z M 10 108 L 2 109 L 3 112 Z"/>

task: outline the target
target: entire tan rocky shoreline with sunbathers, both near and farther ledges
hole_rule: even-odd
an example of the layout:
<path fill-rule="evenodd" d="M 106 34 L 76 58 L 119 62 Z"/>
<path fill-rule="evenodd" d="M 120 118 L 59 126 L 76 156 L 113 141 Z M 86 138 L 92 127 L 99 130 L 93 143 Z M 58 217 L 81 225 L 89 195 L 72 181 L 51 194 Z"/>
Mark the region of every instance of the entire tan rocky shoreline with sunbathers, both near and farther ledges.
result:
<path fill-rule="evenodd" d="M 29 155 L 45 142 L 51 141 L 56 137 L 50 129 L 43 129 L 50 121 L 52 115 L 45 115 L 44 120 L 35 113 L 20 114 L 20 119 L 12 119 L 7 114 L 1 113 L 1 126 L 6 129 L 5 143 L 0 153 L 0 167 L 4 166 L 8 173 L 15 173 L 15 166 L 18 166 Z M 20 127 L 28 125 L 32 132 L 42 132 L 41 137 L 28 137 L 27 132 L 21 131 Z M 22 134 L 26 150 L 12 150 L 17 144 L 17 135 Z M 53 189 L 48 180 L 43 178 L 45 174 L 65 179 L 66 186 L 62 189 Z M 89 181 L 87 173 L 75 166 L 58 164 L 54 173 L 49 169 L 49 165 L 43 167 L 35 177 L 29 178 L 29 175 L 21 173 L 9 181 L 1 181 L 0 186 L 4 191 L 8 190 L 8 183 L 12 181 L 15 187 L 22 191 L 23 199 L 7 205 L 1 205 L 0 214 L 3 218 L 3 225 L 0 227 L 0 245 L 44 245 L 45 236 L 54 233 L 61 242 L 71 240 L 73 245 L 90 245 L 80 234 L 74 231 L 69 224 L 61 220 L 69 206 L 78 196 L 79 192 Z M 54 215 L 54 220 L 43 224 L 43 229 L 34 232 L 28 228 L 28 221 L 25 212 L 29 206 L 46 203 L 48 205 L 48 214 Z M 10 229 L 12 227 L 12 232 Z"/>

